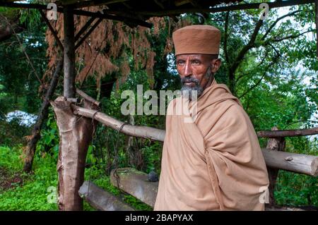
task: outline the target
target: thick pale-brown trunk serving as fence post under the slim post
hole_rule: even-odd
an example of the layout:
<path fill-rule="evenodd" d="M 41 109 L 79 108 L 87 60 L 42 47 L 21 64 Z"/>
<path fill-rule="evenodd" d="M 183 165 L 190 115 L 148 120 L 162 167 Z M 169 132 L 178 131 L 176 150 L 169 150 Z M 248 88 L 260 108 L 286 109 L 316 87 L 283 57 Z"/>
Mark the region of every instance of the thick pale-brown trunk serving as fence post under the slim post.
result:
<path fill-rule="evenodd" d="M 83 210 L 83 200 L 78 190 L 84 181 L 84 169 L 88 145 L 92 140 L 95 121 L 73 114 L 71 102 L 58 97 L 51 102 L 59 127 L 59 210 Z M 97 109 L 94 104 L 84 101 L 84 107 Z"/>

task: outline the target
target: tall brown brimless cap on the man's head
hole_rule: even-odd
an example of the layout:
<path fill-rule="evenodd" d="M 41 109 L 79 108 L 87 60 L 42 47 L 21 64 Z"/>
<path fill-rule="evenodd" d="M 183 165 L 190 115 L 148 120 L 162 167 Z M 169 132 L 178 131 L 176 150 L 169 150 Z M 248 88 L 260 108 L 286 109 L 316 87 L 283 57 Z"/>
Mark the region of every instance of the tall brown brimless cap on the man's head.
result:
<path fill-rule="evenodd" d="M 211 25 L 191 25 L 172 33 L 175 55 L 218 54 L 220 30 Z"/>

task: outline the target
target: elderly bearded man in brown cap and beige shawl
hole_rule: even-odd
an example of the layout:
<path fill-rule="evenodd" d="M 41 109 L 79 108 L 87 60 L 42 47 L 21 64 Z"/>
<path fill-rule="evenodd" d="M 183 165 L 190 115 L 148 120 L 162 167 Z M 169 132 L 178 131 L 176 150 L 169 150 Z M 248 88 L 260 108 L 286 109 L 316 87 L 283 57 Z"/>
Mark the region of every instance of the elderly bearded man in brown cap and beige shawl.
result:
<path fill-rule="evenodd" d="M 192 25 L 172 38 L 182 97 L 172 100 L 167 111 L 187 99 L 193 121 L 184 120 L 187 114 L 167 114 L 154 209 L 264 210 L 269 179 L 257 135 L 239 99 L 214 79 L 220 68 L 220 30 Z"/>

